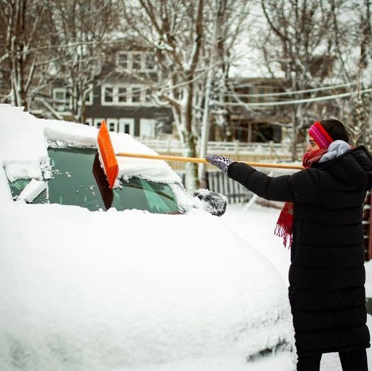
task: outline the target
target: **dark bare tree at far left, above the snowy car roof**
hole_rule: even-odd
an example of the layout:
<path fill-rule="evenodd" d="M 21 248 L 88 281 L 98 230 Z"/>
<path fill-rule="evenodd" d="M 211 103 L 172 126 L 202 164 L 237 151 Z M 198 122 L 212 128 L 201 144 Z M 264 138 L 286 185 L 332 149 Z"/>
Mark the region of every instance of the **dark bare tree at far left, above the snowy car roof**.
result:
<path fill-rule="evenodd" d="M 48 81 L 52 60 L 48 53 L 50 14 L 41 1 L 0 1 L 0 101 L 28 110 L 30 90 Z"/>

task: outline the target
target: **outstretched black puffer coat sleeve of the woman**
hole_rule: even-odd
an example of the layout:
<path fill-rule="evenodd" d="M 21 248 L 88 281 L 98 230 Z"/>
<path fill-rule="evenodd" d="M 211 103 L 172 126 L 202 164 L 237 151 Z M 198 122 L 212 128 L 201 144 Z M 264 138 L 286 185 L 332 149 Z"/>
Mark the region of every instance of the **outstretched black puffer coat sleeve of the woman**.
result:
<path fill-rule="evenodd" d="M 311 169 L 269 177 L 248 164 L 231 163 L 227 174 L 258 196 L 273 201 L 308 202 L 319 191 L 318 174 Z"/>

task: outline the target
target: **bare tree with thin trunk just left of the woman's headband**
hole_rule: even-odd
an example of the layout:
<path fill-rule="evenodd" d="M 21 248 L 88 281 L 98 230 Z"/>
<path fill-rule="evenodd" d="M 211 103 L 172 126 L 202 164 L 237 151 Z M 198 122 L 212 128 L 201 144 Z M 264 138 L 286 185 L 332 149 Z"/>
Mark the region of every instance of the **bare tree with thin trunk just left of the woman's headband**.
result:
<path fill-rule="evenodd" d="M 269 25 L 262 46 L 269 71 L 284 72 L 284 90 L 317 87 L 328 76 L 334 42 L 329 37 L 330 4 L 327 1 L 261 1 Z M 297 98 L 300 98 L 299 96 Z M 298 131 L 311 117 L 303 105 L 290 106 L 293 160 L 296 160 Z"/>

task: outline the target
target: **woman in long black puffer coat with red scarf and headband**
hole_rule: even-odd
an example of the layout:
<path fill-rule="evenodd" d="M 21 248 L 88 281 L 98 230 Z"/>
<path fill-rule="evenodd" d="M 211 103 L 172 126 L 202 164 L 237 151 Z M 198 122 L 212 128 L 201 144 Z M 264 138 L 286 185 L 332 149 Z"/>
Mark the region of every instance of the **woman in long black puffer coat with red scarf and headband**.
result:
<path fill-rule="evenodd" d="M 372 157 L 351 148 L 342 122 L 315 122 L 305 170 L 269 177 L 245 163 L 208 155 L 211 165 L 259 196 L 286 201 L 277 234 L 291 246 L 289 302 L 297 370 L 320 370 L 322 353 L 339 352 L 342 370 L 366 371 L 363 204 L 372 187 Z"/>

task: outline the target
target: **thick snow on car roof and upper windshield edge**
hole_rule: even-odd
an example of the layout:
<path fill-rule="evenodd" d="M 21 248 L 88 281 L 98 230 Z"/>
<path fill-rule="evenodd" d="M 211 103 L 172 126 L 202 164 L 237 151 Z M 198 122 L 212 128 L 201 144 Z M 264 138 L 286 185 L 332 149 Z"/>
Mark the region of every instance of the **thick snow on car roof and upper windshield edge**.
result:
<path fill-rule="evenodd" d="M 40 164 L 49 163 L 47 147 L 97 146 L 98 129 L 54 119 L 37 119 L 23 107 L 0 104 L 0 164 L 10 179 L 41 179 Z M 156 154 L 129 134 L 110 133 L 115 152 Z M 160 160 L 118 157 L 119 176 L 139 176 L 156 182 L 180 182 L 172 168 Z"/>

